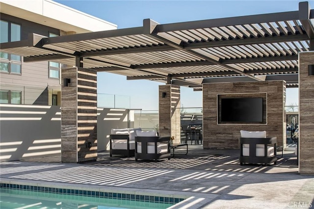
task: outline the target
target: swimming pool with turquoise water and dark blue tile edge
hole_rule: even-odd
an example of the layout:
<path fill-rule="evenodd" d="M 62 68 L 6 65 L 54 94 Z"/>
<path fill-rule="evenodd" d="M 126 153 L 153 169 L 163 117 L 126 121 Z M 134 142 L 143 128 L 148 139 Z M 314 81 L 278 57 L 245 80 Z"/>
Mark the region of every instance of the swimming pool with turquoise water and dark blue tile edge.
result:
<path fill-rule="evenodd" d="M 0 208 L 166 209 L 183 198 L 0 183 Z"/>

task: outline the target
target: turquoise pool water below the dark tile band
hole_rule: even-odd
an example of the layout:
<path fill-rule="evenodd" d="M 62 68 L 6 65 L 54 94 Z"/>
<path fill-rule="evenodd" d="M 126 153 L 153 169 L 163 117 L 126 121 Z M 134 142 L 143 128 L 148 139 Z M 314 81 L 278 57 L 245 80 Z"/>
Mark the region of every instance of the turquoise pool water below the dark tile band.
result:
<path fill-rule="evenodd" d="M 166 209 L 174 204 L 0 188 L 0 209 Z"/>

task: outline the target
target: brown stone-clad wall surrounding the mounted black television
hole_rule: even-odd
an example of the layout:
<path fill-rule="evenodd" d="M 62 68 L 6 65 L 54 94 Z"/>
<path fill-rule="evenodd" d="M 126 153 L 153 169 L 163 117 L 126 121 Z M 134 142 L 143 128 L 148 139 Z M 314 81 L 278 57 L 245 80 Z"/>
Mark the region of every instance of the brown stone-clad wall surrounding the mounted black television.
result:
<path fill-rule="evenodd" d="M 266 95 L 267 124 L 217 124 L 217 95 L 220 94 Z M 285 95 L 285 81 L 204 83 L 203 147 L 237 149 L 240 130 L 267 131 L 268 136 L 277 136 L 278 146 L 282 146 L 286 137 Z"/>

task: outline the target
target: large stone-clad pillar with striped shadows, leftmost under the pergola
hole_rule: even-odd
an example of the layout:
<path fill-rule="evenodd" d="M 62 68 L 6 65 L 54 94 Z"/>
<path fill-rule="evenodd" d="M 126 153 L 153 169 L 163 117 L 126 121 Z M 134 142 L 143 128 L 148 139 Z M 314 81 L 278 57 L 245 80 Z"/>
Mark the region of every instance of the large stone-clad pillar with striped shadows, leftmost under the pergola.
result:
<path fill-rule="evenodd" d="M 65 68 L 61 74 L 61 161 L 96 160 L 97 72 Z M 63 78 L 71 79 L 68 86 Z"/>

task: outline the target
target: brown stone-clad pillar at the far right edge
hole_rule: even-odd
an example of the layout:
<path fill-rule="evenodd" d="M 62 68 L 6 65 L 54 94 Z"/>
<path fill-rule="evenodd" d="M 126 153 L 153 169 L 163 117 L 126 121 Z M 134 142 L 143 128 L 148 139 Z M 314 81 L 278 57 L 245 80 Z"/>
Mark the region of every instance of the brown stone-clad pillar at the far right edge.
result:
<path fill-rule="evenodd" d="M 299 53 L 299 173 L 314 174 L 314 52 Z"/>

